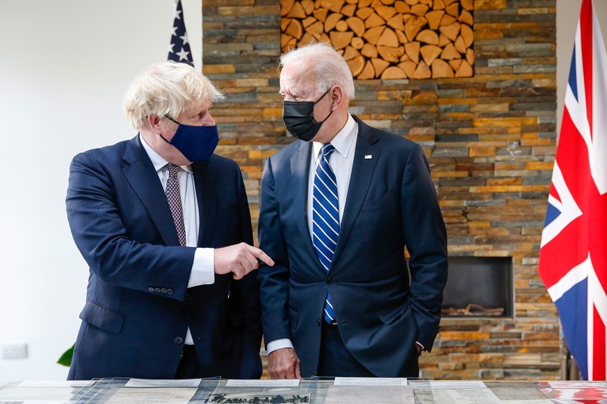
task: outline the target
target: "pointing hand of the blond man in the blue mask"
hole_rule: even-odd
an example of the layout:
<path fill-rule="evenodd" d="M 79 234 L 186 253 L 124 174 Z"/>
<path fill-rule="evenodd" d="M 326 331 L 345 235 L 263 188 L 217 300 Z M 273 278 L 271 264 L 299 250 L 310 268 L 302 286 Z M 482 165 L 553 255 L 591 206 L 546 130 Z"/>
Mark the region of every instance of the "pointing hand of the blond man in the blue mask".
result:
<path fill-rule="evenodd" d="M 215 249 L 215 273 L 234 273 L 234 279 L 242 279 L 247 273 L 259 267 L 257 259 L 273 266 L 274 260 L 264 251 L 246 243 Z"/>

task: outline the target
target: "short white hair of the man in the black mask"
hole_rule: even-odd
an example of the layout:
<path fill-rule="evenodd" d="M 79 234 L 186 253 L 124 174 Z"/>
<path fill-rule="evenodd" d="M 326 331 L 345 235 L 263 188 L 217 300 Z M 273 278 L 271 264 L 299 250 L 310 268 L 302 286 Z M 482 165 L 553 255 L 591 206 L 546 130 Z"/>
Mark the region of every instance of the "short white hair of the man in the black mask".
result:
<path fill-rule="evenodd" d="M 354 79 L 346 60 L 326 42 L 314 42 L 288 51 L 278 60 L 278 65 L 310 63 L 316 70 L 318 92 L 325 92 L 339 84 L 348 100 L 354 99 Z"/>

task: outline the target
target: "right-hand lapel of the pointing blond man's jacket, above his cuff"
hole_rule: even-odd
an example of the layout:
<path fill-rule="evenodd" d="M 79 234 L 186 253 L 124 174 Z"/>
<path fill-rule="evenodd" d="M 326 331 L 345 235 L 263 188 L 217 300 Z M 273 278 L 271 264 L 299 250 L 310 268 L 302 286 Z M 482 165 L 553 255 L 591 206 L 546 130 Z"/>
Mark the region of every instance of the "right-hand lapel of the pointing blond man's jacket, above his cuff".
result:
<path fill-rule="evenodd" d="M 216 194 L 215 174 L 209 171 L 207 166 L 208 163 L 195 163 L 192 165 L 200 216 L 198 246 L 209 246 L 211 244 L 211 236 L 216 224 L 216 199 L 212 197 Z"/>

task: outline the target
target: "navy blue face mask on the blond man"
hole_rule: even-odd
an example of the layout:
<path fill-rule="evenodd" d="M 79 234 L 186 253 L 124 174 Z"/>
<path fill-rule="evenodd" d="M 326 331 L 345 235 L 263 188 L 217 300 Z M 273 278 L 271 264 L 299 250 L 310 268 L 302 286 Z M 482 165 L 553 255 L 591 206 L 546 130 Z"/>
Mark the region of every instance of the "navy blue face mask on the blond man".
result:
<path fill-rule="evenodd" d="M 190 126 L 179 124 L 179 122 L 170 117 L 166 118 L 179 126 L 177 126 L 177 131 L 175 131 L 175 135 L 173 135 L 170 142 L 162 135 L 160 137 L 168 144 L 175 146 L 191 162 L 209 161 L 219 143 L 217 125 Z"/>

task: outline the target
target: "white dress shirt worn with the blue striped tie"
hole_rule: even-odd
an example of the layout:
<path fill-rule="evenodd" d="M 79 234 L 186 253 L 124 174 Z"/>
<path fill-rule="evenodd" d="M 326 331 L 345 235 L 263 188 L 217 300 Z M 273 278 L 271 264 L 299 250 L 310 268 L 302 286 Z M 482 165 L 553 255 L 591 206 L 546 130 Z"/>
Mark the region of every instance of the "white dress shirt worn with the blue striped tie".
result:
<path fill-rule="evenodd" d="M 348 115 L 346 125 L 341 128 L 341 131 L 335 135 L 331 144 L 335 151 L 329 156 L 329 165 L 335 173 L 337 180 L 337 201 L 339 203 L 339 223 L 343 217 L 343 209 L 346 207 L 346 195 L 348 195 L 348 187 L 350 186 L 350 176 L 352 175 L 352 166 L 354 164 L 354 154 L 356 150 L 356 139 L 358 135 L 358 124 L 352 117 Z M 314 176 L 316 175 L 316 167 L 320 163 L 321 149 L 323 144 L 320 142 L 312 142 L 312 153 L 310 162 L 310 171 L 308 174 L 308 194 L 306 203 L 306 215 L 310 237 L 312 237 L 312 200 L 314 198 Z M 293 348 L 293 343 L 289 338 L 276 339 L 268 342 L 266 345 L 268 353 L 276 351 L 280 348 Z"/>

